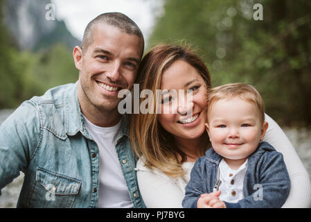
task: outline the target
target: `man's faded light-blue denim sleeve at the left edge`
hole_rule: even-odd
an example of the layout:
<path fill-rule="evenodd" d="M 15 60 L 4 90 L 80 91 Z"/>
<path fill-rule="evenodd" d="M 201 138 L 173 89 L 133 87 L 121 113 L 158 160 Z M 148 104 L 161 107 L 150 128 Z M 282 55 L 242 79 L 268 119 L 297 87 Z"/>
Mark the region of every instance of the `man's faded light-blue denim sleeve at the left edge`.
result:
<path fill-rule="evenodd" d="M 37 105 L 25 101 L 0 126 L 0 190 L 25 171 L 39 137 Z"/>

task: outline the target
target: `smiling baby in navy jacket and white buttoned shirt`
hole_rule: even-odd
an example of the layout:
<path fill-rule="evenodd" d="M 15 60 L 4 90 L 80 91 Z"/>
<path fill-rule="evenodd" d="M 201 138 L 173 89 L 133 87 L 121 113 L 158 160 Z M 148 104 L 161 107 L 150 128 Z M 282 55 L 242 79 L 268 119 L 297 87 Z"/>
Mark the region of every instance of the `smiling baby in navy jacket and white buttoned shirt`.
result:
<path fill-rule="evenodd" d="M 183 207 L 281 207 L 290 177 L 283 155 L 262 142 L 268 123 L 257 90 L 244 83 L 215 87 L 207 110 L 213 148 L 195 162 Z"/>

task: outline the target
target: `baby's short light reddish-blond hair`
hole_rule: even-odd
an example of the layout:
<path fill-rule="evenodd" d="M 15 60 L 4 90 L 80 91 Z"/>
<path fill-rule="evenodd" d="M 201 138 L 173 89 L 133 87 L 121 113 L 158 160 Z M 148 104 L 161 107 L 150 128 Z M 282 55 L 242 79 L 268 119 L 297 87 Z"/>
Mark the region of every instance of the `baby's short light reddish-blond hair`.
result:
<path fill-rule="evenodd" d="M 216 101 L 220 99 L 233 99 L 237 96 L 240 99 L 254 103 L 260 111 L 261 122 L 263 123 L 265 121 L 265 104 L 263 103 L 263 99 L 254 87 L 246 83 L 229 83 L 208 89 L 207 112 Z M 208 115 L 206 115 L 206 118 L 208 118 Z"/>

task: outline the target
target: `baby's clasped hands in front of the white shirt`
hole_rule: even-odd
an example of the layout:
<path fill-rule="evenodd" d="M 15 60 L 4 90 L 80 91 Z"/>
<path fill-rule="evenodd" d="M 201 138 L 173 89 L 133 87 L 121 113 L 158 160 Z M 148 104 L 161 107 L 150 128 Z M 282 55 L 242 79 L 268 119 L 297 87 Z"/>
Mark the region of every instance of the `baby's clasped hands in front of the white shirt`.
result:
<path fill-rule="evenodd" d="M 226 208 L 226 205 L 219 199 L 221 191 L 211 194 L 202 194 L 197 200 L 197 208 Z"/>

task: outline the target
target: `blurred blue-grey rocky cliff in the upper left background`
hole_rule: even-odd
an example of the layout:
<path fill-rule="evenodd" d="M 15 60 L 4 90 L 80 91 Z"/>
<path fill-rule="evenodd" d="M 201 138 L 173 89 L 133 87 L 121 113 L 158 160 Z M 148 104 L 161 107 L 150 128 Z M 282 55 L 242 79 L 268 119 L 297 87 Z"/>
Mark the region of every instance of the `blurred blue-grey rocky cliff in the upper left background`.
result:
<path fill-rule="evenodd" d="M 37 51 L 56 42 L 73 48 L 80 41 L 71 35 L 63 21 L 51 18 L 51 0 L 5 0 L 3 20 L 19 49 Z"/>

